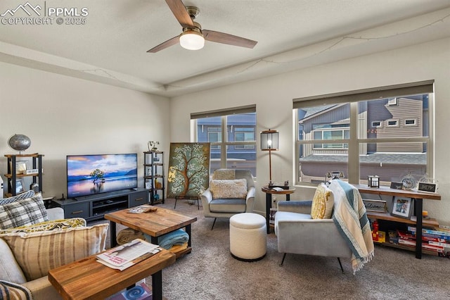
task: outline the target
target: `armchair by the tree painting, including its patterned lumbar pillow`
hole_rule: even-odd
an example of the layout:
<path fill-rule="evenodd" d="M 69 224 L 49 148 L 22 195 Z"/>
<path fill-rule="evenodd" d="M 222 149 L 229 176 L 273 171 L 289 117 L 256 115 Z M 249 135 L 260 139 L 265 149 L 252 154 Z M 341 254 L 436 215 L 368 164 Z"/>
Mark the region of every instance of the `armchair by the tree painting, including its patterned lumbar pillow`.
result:
<path fill-rule="evenodd" d="M 214 218 L 231 218 L 236 213 L 251 213 L 255 203 L 255 181 L 250 170 L 219 169 L 212 174 L 210 187 L 203 192 L 203 214 Z"/>

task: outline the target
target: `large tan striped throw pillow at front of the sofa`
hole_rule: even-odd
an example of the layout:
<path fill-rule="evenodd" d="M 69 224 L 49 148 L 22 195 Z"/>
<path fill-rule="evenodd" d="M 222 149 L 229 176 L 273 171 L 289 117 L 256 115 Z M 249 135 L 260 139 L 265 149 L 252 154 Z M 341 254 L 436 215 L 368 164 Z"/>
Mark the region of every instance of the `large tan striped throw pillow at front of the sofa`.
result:
<path fill-rule="evenodd" d="M 14 254 L 27 281 L 49 270 L 105 250 L 108 223 L 91 227 L 0 235 Z"/>

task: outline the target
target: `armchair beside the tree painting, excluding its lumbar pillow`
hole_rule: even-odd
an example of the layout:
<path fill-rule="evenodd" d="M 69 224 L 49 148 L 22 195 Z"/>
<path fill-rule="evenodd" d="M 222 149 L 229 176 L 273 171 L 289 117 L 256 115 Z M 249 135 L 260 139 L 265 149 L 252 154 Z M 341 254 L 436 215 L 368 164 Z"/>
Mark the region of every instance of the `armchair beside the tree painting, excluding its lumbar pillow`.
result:
<path fill-rule="evenodd" d="M 250 170 L 219 169 L 215 170 L 212 180 L 237 180 L 247 181 L 247 194 L 245 198 L 217 198 L 213 196 L 210 188 L 203 192 L 201 199 L 203 214 L 206 218 L 214 218 L 211 230 L 214 228 L 217 218 L 231 218 L 236 213 L 251 213 L 255 203 L 255 181 Z"/>

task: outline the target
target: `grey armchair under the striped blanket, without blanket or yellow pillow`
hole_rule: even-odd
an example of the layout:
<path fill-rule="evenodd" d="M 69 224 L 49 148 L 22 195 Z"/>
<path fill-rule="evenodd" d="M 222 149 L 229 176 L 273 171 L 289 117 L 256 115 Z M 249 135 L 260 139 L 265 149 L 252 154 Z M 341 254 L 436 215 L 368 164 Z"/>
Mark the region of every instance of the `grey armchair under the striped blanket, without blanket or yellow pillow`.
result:
<path fill-rule="evenodd" d="M 336 203 L 334 199 L 334 202 Z M 278 252 L 286 254 L 308 254 L 351 258 L 352 251 L 338 232 L 333 219 L 312 219 L 312 201 L 278 201 L 275 214 L 275 234 L 278 238 Z"/>

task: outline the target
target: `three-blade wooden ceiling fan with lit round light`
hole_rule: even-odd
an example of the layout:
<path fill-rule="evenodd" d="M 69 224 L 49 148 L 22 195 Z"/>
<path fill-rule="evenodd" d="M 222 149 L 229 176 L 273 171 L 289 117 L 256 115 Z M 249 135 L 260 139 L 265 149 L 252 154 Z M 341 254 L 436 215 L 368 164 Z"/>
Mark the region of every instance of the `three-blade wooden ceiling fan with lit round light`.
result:
<path fill-rule="evenodd" d="M 202 49 L 205 40 L 246 48 L 253 48 L 257 44 L 256 41 L 237 37 L 236 35 L 229 35 L 228 33 L 213 30 L 202 30 L 200 24 L 194 22 L 195 17 L 200 13 L 197 7 L 184 6 L 181 0 L 166 0 L 166 2 L 172 13 L 175 15 L 176 20 L 178 20 L 181 27 L 183 27 L 183 32 L 181 32 L 181 35 L 172 37 L 172 39 L 168 39 L 162 44 L 148 50 L 147 52 L 149 53 L 156 53 L 169 46 L 173 46 L 178 42 L 183 48 L 189 50 Z"/>

